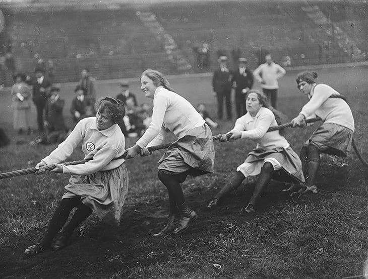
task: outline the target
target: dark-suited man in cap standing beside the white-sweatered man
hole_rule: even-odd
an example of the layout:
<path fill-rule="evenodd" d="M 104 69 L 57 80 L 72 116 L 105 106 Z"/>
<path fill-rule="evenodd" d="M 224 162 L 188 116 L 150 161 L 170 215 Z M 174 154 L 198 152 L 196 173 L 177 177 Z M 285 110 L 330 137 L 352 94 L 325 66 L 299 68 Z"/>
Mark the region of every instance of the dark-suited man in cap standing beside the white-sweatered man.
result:
<path fill-rule="evenodd" d="M 233 72 L 232 86 L 235 88 L 235 107 L 237 117 L 240 118 L 247 113 L 246 96 L 254 84 L 252 71 L 247 68 L 247 58 L 238 59 L 239 67 Z"/>

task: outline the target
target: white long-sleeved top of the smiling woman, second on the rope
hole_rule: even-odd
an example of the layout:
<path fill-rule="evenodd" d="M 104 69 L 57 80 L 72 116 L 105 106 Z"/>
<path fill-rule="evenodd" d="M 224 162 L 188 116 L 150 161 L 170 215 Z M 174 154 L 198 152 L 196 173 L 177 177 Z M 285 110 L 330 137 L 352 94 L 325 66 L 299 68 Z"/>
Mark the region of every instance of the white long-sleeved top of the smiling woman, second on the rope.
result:
<path fill-rule="evenodd" d="M 153 98 L 152 121 L 143 136 L 137 141 L 141 148 L 161 144 L 165 128 L 176 137 L 185 136 L 193 128 L 205 124 L 205 120 L 186 99 L 163 86 L 156 88 Z"/>

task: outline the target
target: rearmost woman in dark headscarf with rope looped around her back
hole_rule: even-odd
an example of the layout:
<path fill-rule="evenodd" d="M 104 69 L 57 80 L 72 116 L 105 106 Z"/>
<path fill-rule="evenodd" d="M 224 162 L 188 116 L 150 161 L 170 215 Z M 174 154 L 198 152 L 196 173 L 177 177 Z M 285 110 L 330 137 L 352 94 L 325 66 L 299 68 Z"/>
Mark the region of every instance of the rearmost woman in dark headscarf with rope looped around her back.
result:
<path fill-rule="evenodd" d="M 331 86 L 317 83 L 317 72 L 305 71 L 296 77 L 298 89 L 308 96 L 309 102 L 291 123 L 293 127 L 305 126 L 305 119 L 320 117 L 322 125 L 304 143 L 300 152 L 306 183 L 315 185 L 321 164 L 320 153 L 346 157 L 351 151 L 354 118 L 346 99 Z"/>

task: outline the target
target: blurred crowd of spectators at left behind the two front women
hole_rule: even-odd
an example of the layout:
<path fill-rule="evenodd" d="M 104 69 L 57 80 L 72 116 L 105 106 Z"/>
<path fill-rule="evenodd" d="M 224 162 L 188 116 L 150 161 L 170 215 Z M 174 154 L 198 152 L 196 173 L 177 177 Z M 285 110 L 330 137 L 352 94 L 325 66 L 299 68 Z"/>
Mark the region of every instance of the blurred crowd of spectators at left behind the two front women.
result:
<path fill-rule="evenodd" d="M 31 141 L 31 144 L 62 142 L 81 119 L 96 115 L 96 79 L 90 75 L 88 68 L 81 71 L 81 78 L 74 89 L 75 96 L 69 108 L 71 121 L 65 120 L 66 102 L 60 95 L 60 85 L 53 83 L 54 71 L 49 69 L 39 59 L 32 74 L 18 72 L 13 76 L 13 129 L 18 134 L 39 134 L 40 138 Z M 151 122 L 151 106 L 147 103 L 138 106 L 129 83 L 121 82 L 120 89 L 116 98 L 124 103 L 126 115 L 118 125 L 125 136 L 141 136 Z M 37 121 L 37 129 L 34 131 L 31 127 L 32 105 L 36 109 Z"/>

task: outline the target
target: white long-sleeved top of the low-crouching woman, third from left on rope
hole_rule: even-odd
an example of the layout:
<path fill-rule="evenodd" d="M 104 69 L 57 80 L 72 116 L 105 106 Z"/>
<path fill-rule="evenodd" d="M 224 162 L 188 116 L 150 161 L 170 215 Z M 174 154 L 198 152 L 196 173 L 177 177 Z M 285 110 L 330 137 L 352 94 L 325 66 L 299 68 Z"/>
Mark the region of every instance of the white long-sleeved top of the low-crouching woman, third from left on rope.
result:
<path fill-rule="evenodd" d="M 241 132 L 242 139 L 254 140 L 257 143 L 257 148 L 288 148 L 290 144 L 280 135 L 278 130 L 267 133 L 267 130 L 273 126 L 277 126 L 275 115 L 271 110 L 262 107 L 255 117 L 252 117 L 248 112 L 238 118 L 231 131 Z"/>

